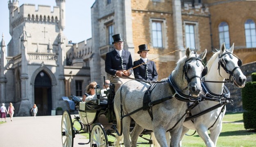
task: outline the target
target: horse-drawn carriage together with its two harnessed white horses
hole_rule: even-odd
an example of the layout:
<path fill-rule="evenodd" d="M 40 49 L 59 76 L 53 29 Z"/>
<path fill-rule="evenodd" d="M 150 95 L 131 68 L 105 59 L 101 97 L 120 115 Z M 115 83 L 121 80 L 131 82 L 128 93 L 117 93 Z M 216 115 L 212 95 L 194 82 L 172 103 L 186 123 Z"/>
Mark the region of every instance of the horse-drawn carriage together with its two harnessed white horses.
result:
<path fill-rule="evenodd" d="M 238 67 L 240 66 L 239 58 L 233 58 L 235 55 L 233 55 L 232 52 L 233 49 L 229 52 L 226 51 L 225 47 L 221 48 L 221 51 L 216 54 L 213 63 L 211 63 L 214 65 L 211 67 L 212 70 L 217 70 L 219 74 L 211 73 L 209 75 L 216 78 L 221 77 L 215 80 L 222 80 L 221 82 L 216 82 L 220 85 L 217 89 L 220 94 L 215 97 L 214 93 L 211 92 L 211 90 L 214 90 L 214 87 L 216 87 L 215 85 L 211 85 L 210 91 L 206 91 L 205 95 L 201 94 L 206 87 L 205 85 L 202 86 L 201 83 L 203 81 L 202 77 L 207 73 L 207 67 L 205 67 L 202 62 L 206 51 L 198 56 L 196 53 L 190 53 L 189 49 L 186 49 L 186 56 L 177 62 L 177 67 L 170 74 L 169 78 L 163 79 L 155 84 L 131 80 L 120 87 L 116 94 L 113 90 L 108 91 L 107 104 L 101 104 L 98 100 L 96 105 L 91 105 L 82 102 L 81 98 L 77 96 L 70 96 L 69 98 L 63 97 L 63 100 L 69 103 L 71 111 L 78 110 L 79 112 L 79 116 L 75 117 L 74 120 L 71 119 L 69 111 L 63 112 L 61 122 L 63 147 L 72 147 L 75 134 L 81 133 L 89 133 L 88 143 L 91 143 L 92 147 L 112 146 L 114 142 L 109 141 L 107 136 L 116 137 L 115 144 L 118 146 L 122 144 L 119 142 L 120 135 L 122 134 L 124 135 L 125 146 L 136 146 L 136 144 L 138 144 L 138 136 L 150 134 L 151 132 L 154 132 L 156 140 L 161 147 L 167 147 L 170 143 L 172 146 L 176 147 L 179 146 L 179 143 L 181 143 L 180 139 L 182 139 L 182 136 L 188 129 L 195 129 L 198 132 L 202 130 L 205 131 L 204 128 L 202 129 L 205 122 L 201 119 L 203 114 L 211 111 L 212 114 L 204 115 L 204 118 L 211 119 L 210 121 L 213 122 L 215 121 L 214 124 L 217 123 L 218 126 L 221 125 L 224 115 L 224 113 L 221 113 L 224 111 L 221 106 L 226 105 L 230 100 L 229 98 L 224 98 L 222 94 L 225 82 L 224 79 L 227 77 L 226 79 L 235 82 L 234 84 L 238 85 L 238 87 L 243 87 L 246 79 Z M 215 67 L 218 69 L 215 69 Z M 235 71 L 236 69 L 238 70 Z M 233 78 L 237 78 L 238 80 Z M 206 79 L 213 78 L 208 76 Z M 211 83 L 213 81 L 208 82 Z M 228 91 L 226 89 L 224 90 Z M 150 95 L 151 99 L 146 105 L 143 104 L 145 94 Z M 213 96 L 213 98 L 211 96 Z M 206 102 L 204 105 L 199 105 L 202 100 L 209 100 L 209 102 Z M 217 104 L 215 106 L 216 103 L 213 101 L 220 105 Z M 187 102 L 190 102 L 189 107 Z M 197 105 L 198 107 L 204 106 L 204 108 L 197 108 Z M 208 109 L 205 107 L 208 107 Z M 190 113 L 194 113 L 195 115 L 186 118 Z M 209 115 L 217 116 L 217 119 Z M 191 119 L 195 119 L 194 121 L 197 124 L 202 124 L 198 125 L 201 126 L 201 128 L 197 128 L 196 126 L 191 127 L 192 125 L 190 124 L 184 125 L 185 120 Z M 79 129 L 73 126 L 77 122 L 80 125 Z M 206 131 L 210 129 L 208 128 L 208 124 L 209 123 L 205 125 Z M 216 129 L 216 126 L 217 125 L 211 127 L 210 131 L 217 130 L 217 136 L 213 136 L 213 141 L 210 141 L 211 145 L 208 146 L 216 145 L 216 140 L 221 130 L 221 127 Z M 166 134 L 167 132 L 170 132 L 172 136 L 170 140 Z M 131 141 L 129 136 L 131 136 Z M 207 138 L 207 136 L 201 136 L 200 134 L 199 136 L 202 137 L 204 141 L 204 138 Z M 152 145 L 154 142 L 155 145 L 156 140 L 152 141 L 151 139 L 146 139 L 147 142 L 145 144 Z"/>

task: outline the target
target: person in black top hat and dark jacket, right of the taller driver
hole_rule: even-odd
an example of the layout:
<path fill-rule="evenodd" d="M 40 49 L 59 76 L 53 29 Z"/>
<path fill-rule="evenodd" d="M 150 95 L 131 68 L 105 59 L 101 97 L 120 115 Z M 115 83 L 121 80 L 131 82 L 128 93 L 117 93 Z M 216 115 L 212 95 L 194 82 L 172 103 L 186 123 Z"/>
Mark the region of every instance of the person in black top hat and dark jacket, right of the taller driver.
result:
<path fill-rule="evenodd" d="M 140 54 L 141 58 L 134 61 L 134 76 L 140 80 L 156 81 L 158 78 L 156 64 L 154 61 L 147 59 L 148 51 L 150 50 L 147 49 L 147 45 L 139 45 L 138 54 Z"/>

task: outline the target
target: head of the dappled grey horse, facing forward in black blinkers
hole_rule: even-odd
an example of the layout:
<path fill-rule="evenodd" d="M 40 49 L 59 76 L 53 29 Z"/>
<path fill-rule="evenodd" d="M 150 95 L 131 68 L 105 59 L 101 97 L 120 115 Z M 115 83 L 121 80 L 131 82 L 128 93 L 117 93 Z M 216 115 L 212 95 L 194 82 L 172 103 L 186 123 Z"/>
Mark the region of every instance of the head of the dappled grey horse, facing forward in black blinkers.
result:
<path fill-rule="evenodd" d="M 186 49 L 186 57 L 183 67 L 183 75 L 188 85 L 186 88 L 190 90 L 191 96 L 198 97 L 202 91 L 201 79 L 207 73 L 207 67 L 204 66 L 202 59 L 205 58 L 207 50 L 201 54 L 191 53 L 190 49 Z"/>

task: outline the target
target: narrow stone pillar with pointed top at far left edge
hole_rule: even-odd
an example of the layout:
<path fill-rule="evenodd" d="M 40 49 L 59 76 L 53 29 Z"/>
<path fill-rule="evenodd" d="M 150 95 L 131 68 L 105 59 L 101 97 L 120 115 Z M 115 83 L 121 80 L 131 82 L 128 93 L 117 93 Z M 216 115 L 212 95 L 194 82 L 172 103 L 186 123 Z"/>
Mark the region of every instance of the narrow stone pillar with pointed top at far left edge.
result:
<path fill-rule="evenodd" d="M 1 51 L 0 51 L 0 102 L 6 102 L 6 82 L 7 79 L 5 77 L 5 65 L 7 63 L 6 56 L 5 56 L 5 40 L 4 40 L 4 34 L 2 34 L 2 41 L 0 43 Z"/>

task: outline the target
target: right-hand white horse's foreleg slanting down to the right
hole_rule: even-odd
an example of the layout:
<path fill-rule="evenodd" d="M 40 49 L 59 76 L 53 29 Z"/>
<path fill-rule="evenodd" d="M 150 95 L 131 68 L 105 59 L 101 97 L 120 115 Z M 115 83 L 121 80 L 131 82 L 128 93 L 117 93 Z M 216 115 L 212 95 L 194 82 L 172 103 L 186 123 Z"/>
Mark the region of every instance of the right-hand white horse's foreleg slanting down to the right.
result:
<path fill-rule="evenodd" d="M 198 135 L 204 140 L 206 147 L 215 147 L 213 141 L 208 135 L 208 128 L 205 126 L 195 127 Z"/>

